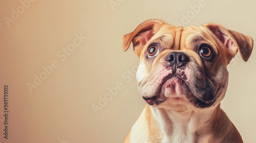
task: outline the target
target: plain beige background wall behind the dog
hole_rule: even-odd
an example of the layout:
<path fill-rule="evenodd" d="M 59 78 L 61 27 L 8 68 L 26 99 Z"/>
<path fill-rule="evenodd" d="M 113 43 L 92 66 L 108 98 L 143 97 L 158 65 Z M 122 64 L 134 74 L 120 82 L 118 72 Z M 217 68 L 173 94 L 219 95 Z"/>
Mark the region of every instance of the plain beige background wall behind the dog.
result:
<path fill-rule="evenodd" d="M 1 1 L 0 142 L 122 142 L 144 106 L 132 70 L 139 59 L 132 49 L 122 51 L 122 36 L 151 18 L 182 23 L 182 14 L 191 12 L 199 0 L 113 0 L 117 4 L 113 9 L 109 2 L 37 0 L 22 11 L 19 1 Z M 255 1 L 205 0 L 185 25 L 217 22 L 256 40 L 255 5 Z M 11 18 L 17 8 L 21 14 L 8 27 L 4 17 Z M 87 39 L 61 61 L 57 53 L 80 33 Z M 58 67 L 31 93 L 27 83 L 54 60 Z M 255 50 L 246 63 L 239 55 L 232 61 L 222 102 L 244 142 L 256 139 L 255 61 Z M 98 105 L 117 83 L 123 88 L 96 115 L 92 105 Z M 9 139 L 3 134 L 5 84 Z"/>

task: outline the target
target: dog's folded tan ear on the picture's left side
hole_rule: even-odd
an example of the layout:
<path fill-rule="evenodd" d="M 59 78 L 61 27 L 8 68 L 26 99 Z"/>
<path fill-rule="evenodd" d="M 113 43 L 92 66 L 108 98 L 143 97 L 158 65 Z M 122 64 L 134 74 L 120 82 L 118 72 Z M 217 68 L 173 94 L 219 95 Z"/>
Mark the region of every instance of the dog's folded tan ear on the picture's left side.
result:
<path fill-rule="evenodd" d="M 129 46 L 133 41 L 133 50 L 135 54 L 140 56 L 144 45 L 156 34 L 156 32 L 159 31 L 164 23 L 163 20 L 159 19 L 150 19 L 142 22 L 133 32 L 123 36 L 123 51 L 129 49 Z"/>

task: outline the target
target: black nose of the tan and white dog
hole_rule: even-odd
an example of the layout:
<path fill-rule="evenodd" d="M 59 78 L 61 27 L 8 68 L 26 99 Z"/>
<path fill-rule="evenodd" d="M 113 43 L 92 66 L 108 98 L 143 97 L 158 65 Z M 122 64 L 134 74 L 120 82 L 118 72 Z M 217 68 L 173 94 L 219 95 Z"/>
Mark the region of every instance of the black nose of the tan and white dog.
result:
<path fill-rule="evenodd" d="M 165 60 L 176 67 L 184 66 L 189 62 L 188 56 L 183 52 L 170 52 Z"/>

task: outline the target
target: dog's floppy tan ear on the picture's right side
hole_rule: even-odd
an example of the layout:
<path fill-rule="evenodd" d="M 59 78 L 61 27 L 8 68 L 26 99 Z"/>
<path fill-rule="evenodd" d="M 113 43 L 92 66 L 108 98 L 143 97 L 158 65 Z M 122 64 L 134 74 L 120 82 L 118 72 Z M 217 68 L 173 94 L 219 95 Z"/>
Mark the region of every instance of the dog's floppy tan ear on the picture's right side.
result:
<path fill-rule="evenodd" d="M 253 39 L 250 36 L 233 30 L 227 30 L 216 23 L 207 23 L 203 26 L 214 33 L 214 35 L 227 47 L 228 63 L 234 56 L 236 56 L 238 51 L 244 61 L 249 59 L 253 47 Z"/>

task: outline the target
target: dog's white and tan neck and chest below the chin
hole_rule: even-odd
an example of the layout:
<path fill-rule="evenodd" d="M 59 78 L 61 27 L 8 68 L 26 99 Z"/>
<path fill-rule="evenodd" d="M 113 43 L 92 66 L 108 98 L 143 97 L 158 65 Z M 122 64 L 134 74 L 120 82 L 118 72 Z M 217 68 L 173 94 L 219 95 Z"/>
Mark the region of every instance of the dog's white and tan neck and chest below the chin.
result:
<path fill-rule="evenodd" d="M 148 105 L 147 105 L 148 106 Z M 160 126 L 163 142 L 208 142 L 220 105 L 201 110 L 174 111 L 147 107 Z"/>

